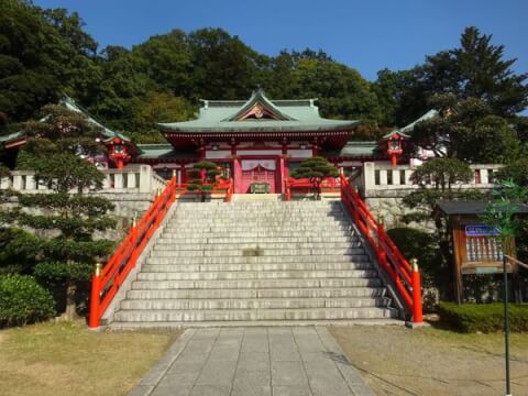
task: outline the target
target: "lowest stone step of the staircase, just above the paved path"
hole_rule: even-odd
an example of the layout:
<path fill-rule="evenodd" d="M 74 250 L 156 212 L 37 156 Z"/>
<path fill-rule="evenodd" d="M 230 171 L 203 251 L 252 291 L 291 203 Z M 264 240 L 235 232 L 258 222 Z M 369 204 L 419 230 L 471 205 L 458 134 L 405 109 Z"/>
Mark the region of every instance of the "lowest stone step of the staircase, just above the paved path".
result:
<path fill-rule="evenodd" d="M 195 322 L 195 321 L 242 321 L 242 320 L 328 320 L 395 318 L 391 308 L 309 308 L 309 309 L 200 309 L 200 310 L 121 310 L 116 319 L 121 322 Z"/>

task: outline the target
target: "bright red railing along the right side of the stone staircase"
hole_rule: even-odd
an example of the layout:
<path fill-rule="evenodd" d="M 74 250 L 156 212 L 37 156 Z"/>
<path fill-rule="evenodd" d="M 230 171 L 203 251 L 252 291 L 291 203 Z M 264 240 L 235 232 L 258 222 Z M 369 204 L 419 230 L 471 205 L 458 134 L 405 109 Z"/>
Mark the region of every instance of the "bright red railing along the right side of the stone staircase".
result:
<path fill-rule="evenodd" d="M 420 273 L 417 262 L 413 265 L 405 260 L 384 227 L 369 210 L 369 207 L 341 175 L 341 199 L 349 209 L 355 224 L 374 249 L 377 261 L 393 279 L 405 305 L 413 314 L 413 322 L 422 322 Z"/>

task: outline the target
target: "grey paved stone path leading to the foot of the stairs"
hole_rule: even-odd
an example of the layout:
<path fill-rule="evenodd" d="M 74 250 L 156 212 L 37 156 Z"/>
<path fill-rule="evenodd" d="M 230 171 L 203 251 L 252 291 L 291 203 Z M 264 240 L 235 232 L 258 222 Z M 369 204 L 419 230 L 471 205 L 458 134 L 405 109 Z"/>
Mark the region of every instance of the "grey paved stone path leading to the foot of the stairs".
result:
<path fill-rule="evenodd" d="M 188 329 L 129 396 L 373 395 L 323 327 Z"/>

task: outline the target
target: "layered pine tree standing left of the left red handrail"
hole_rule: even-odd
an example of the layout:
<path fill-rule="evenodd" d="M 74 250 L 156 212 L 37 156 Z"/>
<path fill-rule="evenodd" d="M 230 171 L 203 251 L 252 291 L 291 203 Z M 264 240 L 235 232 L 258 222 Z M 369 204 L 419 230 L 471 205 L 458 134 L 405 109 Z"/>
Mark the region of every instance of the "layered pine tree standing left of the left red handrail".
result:
<path fill-rule="evenodd" d="M 101 131 L 77 112 L 55 106 L 45 111 L 44 121 L 25 125 L 32 138 L 22 148 L 19 166 L 35 170 L 35 178 L 52 193 L 20 194 L 19 205 L 8 218 L 15 229 L 34 230 L 34 238 L 14 239 L 12 249 L 16 242 L 31 243 L 35 276 L 64 286 L 65 317 L 72 319 L 76 316 L 78 286 L 89 280 L 95 262 L 113 245 L 94 240 L 95 232 L 116 226 L 108 215 L 113 205 L 85 194 L 102 187 L 103 175 L 86 160 L 98 152 L 95 138 Z M 23 251 L 25 246 L 18 248 Z"/>

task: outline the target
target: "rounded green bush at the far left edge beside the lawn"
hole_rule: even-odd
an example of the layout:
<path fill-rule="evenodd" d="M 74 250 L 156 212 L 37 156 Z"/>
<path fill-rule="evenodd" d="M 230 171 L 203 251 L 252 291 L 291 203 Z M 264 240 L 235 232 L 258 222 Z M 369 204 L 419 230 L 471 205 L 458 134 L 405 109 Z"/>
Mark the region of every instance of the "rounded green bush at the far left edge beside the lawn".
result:
<path fill-rule="evenodd" d="M 0 276 L 0 326 L 24 326 L 55 315 L 52 295 L 32 276 Z"/>

